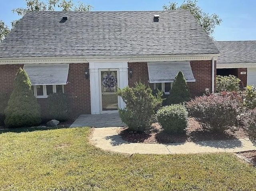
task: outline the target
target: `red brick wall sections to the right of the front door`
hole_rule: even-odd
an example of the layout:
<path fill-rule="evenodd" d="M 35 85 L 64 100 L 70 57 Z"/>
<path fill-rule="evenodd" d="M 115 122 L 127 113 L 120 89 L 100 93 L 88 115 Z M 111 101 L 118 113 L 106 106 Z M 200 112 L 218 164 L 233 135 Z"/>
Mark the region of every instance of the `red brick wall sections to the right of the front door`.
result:
<path fill-rule="evenodd" d="M 194 74 L 196 82 L 189 82 L 191 96 L 202 95 L 206 88 L 212 90 L 212 61 L 190 61 L 191 69 Z M 148 83 L 148 65 L 146 62 L 128 63 L 128 68 L 132 69 L 132 78 L 128 76 L 128 84 L 134 87 L 134 83 L 141 81 L 144 84 Z M 215 77 L 214 83 L 216 84 L 216 62 L 215 62 Z"/>

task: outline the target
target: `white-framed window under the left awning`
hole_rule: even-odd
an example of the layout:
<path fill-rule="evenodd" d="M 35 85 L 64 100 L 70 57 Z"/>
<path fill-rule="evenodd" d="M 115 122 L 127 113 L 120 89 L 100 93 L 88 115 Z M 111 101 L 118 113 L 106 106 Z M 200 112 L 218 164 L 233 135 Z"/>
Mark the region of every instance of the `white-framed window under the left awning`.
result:
<path fill-rule="evenodd" d="M 64 93 L 64 85 L 36 85 L 31 89 L 36 98 L 47 98 L 51 93 Z"/>

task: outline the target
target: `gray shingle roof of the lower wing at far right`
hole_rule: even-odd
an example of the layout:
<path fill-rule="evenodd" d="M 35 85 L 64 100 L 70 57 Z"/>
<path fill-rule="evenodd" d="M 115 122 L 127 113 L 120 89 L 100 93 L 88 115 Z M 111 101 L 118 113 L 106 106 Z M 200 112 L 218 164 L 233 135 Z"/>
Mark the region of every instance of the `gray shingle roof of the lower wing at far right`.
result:
<path fill-rule="evenodd" d="M 256 41 L 216 41 L 220 50 L 217 64 L 256 63 Z"/>

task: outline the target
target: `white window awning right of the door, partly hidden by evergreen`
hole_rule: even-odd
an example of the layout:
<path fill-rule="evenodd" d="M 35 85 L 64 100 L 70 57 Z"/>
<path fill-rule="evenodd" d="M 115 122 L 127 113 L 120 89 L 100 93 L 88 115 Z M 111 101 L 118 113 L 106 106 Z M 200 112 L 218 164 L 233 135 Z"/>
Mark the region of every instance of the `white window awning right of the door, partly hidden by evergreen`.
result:
<path fill-rule="evenodd" d="M 182 71 L 187 82 L 195 82 L 189 61 L 148 62 L 150 83 L 173 82 L 179 71 Z"/>

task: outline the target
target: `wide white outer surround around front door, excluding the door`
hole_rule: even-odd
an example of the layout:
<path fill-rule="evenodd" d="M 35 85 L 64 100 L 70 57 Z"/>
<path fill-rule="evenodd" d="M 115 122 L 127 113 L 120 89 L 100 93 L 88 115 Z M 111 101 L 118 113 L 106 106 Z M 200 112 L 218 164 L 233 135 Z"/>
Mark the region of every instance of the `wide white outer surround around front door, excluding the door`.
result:
<path fill-rule="evenodd" d="M 100 77 L 99 70 L 100 69 L 118 69 L 119 70 L 119 85 L 118 87 L 124 88 L 128 86 L 128 62 L 120 62 L 120 61 L 93 61 L 89 63 L 90 69 L 90 94 L 91 94 L 91 114 L 100 114 L 101 113 L 101 103 L 100 103 Z M 124 108 L 125 104 L 122 98 L 118 98 L 119 108 Z M 109 111 L 107 113 L 111 113 L 113 111 Z"/>

